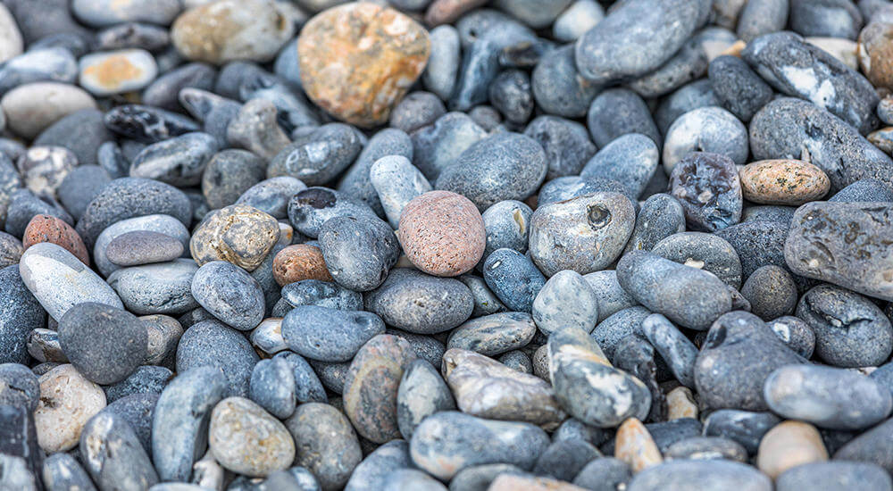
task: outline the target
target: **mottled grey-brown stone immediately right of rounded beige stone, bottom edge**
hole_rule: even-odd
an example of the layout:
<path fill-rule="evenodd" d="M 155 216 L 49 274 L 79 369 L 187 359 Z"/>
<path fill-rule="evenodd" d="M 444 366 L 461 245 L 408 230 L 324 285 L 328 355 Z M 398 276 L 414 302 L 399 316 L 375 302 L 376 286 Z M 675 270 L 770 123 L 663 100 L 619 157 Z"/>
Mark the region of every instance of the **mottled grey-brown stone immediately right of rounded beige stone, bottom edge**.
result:
<path fill-rule="evenodd" d="M 350 420 L 329 404 L 301 404 L 286 427 L 295 438 L 296 464 L 313 472 L 324 491 L 343 487 L 363 460 Z"/>

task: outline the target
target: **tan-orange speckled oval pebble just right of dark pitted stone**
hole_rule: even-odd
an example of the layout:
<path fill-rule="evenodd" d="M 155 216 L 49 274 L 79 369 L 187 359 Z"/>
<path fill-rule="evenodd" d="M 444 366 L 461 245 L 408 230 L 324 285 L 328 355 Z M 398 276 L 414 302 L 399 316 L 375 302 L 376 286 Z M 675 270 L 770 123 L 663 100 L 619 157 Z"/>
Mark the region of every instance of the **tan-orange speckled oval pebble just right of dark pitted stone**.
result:
<path fill-rule="evenodd" d="M 822 169 L 793 159 L 748 163 L 739 178 L 744 198 L 759 204 L 799 206 L 820 199 L 830 188 Z"/>

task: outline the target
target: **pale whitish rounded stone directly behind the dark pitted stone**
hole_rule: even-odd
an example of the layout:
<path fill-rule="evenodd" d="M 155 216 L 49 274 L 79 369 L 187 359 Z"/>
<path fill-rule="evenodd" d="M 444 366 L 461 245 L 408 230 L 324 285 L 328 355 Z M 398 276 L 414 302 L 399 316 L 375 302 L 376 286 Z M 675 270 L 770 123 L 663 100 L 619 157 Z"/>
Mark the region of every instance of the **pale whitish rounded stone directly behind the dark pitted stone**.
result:
<path fill-rule="evenodd" d="M 747 128 L 731 112 L 717 106 L 698 107 L 680 115 L 666 131 L 663 171 L 673 168 L 691 152 L 722 154 L 737 165 L 747 161 Z"/>

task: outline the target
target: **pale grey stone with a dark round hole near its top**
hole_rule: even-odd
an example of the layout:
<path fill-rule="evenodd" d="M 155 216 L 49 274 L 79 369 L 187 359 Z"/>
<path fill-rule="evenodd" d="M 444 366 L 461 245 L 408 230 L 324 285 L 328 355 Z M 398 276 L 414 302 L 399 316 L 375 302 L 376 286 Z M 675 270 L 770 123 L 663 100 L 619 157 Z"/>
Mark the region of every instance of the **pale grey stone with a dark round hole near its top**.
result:
<path fill-rule="evenodd" d="M 547 276 L 603 270 L 622 253 L 635 214 L 630 200 L 617 193 L 540 206 L 530 218 L 530 256 Z"/>

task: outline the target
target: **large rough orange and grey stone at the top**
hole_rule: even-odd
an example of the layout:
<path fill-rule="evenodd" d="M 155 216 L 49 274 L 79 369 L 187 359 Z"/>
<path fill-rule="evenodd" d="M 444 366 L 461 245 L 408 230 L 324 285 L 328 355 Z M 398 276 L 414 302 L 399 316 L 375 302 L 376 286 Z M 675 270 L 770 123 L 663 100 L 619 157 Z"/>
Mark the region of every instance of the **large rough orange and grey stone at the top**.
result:
<path fill-rule="evenodd" d="M 308 21 L 297 54 L 307 96 L 339 120 L 371 128 L 388 121 L 425 70 L 430 39 L 403 13 L 356 2 Z"/>

